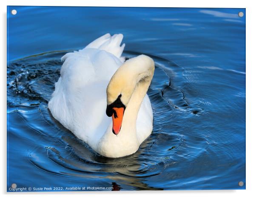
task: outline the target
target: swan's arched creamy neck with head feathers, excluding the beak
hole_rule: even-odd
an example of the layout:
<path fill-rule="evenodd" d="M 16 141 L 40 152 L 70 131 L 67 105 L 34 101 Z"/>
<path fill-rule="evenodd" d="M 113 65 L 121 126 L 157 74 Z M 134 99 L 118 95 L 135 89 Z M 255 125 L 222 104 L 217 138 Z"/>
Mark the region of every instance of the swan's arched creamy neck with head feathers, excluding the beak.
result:
<path fill-rule="evenodd" d="M 137 137 L 137 116 L 142 101 L 148 91 L 154 74 L 154 61 L 140 55 L 126 61 L 112 76 L 107 88 L 107 104 L 111 105 L 117 97 L 125 105 L 119 133 L 112 133 L 112 122 L 96 150 L 103 156 L 119 157 L 135 153 L 141 142 Z"/>

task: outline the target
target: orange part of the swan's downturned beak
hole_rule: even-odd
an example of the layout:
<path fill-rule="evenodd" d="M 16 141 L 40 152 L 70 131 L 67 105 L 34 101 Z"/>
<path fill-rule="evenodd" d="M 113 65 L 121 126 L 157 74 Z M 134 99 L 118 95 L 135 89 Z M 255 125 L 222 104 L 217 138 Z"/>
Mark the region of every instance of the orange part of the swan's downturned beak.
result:
<path fill-rule="evenodd" d="M 124 107 L 114 107 L 113 108 L 113 115 L 112 115 L 112 120 L 113 120 L 113 128 L 112 131 L 115 135 L 117 135 L 120 132 L 121 126 L 122 126 L 122 118 L 124 116 Z"/>

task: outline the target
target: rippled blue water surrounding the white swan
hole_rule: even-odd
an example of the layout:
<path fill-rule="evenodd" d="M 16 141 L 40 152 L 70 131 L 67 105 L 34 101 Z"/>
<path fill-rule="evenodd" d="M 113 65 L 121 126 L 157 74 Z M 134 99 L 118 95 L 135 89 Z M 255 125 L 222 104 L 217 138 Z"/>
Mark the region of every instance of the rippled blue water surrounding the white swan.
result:
<path fill-rule="evenodd" d="M 245 184 L 245 16 L 239 11 L 245 14 L 9 6 L 7 190 L 13 183 L 57 190 L 245 189 L 238 185 Z M 107 32 L 124 34 L 127 59 L 148 54 L 156 63 L 148 90 L 153 132 L 137 153 L 117 159 L 95 153 L 47 108 L 60 57 Z"/>

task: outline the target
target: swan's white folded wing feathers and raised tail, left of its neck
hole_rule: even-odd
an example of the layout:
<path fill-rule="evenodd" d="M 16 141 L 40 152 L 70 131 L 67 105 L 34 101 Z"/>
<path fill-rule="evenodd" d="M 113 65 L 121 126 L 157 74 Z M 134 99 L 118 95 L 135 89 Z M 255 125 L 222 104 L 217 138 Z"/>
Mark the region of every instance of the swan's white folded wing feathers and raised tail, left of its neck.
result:
<path fill-rule="evenodd" d="M 84 49 L 62 57 L 60 78 L 48 108 L 55 119 L 85 142 L 100 138 L 111 122 L 105 114 L 106 88 L 123 63 L 121 54 L 119 57 L 113 54 L 123 50 L 120 46 L 114 50 L 120 39 L 118 35 L 108 37 L 106 34 Z"/>

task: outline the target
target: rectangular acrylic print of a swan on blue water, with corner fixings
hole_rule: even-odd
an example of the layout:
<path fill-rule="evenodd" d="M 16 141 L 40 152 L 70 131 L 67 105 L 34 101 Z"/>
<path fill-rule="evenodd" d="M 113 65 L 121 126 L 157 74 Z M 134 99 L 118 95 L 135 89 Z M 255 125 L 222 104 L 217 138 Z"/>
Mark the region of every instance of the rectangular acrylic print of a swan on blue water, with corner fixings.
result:
<path fill-rule="evenodd" d="M 7 191 L 245 189 L 245 17 L 8 6 Z"/>

